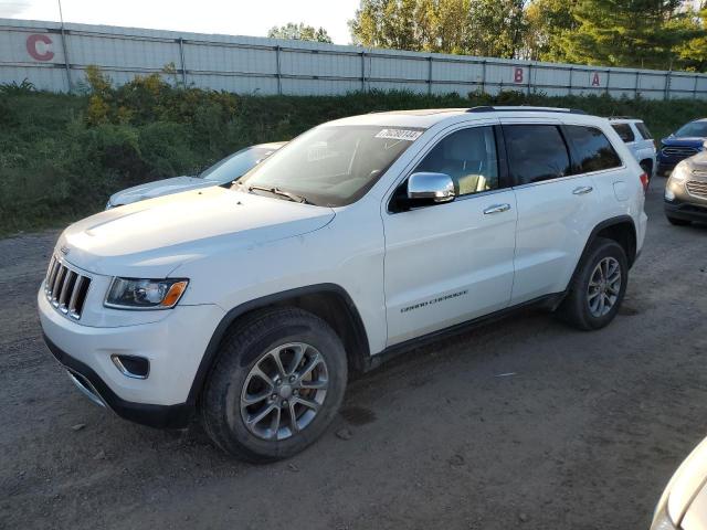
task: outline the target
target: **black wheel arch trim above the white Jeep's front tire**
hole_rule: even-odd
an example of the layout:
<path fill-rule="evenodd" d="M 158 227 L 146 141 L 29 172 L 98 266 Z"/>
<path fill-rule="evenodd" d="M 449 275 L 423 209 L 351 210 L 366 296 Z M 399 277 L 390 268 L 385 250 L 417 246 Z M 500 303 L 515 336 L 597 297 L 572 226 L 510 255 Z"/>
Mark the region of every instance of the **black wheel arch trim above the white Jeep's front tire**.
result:
<path fill-rule="evenodd" d="M 368 335 L 349 294 L 336 284 L 309 285 L 249 300 L 229 310 L 207 346 L 189 390 L 188 403 L 197 404 L 228 330 L 253 311 L 278 307 L 298 307 L 325 320 L 341 339 L 349 369 L 360 372 L 368 369 Z"/>

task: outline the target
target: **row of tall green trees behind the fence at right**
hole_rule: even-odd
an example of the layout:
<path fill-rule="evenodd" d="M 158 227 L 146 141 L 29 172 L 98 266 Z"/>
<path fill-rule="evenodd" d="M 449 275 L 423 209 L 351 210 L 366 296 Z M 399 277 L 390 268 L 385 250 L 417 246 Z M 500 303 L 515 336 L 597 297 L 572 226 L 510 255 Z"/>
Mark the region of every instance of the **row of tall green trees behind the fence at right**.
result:
<path fill-rule="evenodd" d="M 354 43 L 646 68 L 707 67 L 707 0 L 360 0 Z"/>

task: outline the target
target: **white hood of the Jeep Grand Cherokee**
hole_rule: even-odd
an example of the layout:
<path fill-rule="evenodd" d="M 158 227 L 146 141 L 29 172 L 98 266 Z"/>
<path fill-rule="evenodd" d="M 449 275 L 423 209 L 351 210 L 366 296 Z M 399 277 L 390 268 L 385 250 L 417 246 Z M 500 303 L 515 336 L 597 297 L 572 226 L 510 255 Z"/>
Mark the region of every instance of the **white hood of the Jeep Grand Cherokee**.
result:
<path fill-rule="evenodd" d="M 330 208 L 205 188 L 86 218 L 64 231 L 56 250 L 91 273 L 166 277 L 191 259 L 313 232 L 334 215 Z"/>

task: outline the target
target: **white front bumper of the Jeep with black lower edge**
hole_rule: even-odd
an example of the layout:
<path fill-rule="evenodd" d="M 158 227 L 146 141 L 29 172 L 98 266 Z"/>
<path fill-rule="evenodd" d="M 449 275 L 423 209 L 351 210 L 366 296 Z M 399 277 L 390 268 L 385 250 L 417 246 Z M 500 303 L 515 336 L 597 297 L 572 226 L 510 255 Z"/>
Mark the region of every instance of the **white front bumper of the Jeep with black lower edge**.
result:
<path fill-rule="evenodd" d="M 178 306 L 167 317 L 120 327 L 84 326 L 38 295 L 44 341 L 84 390 L 119 416 L 157 427 L 183 426 L 193 412 L 190 390 L 207 346 L 224 311 L 214 305 Z M 144 311 L 145 318 L 151 318 Z M 149 361 L 146 379 L 126 377 L 112 354 Z M 84 392 L 85 393 L 85 392 Z M 96 401 L 96 400 L 93 400 Z"/>

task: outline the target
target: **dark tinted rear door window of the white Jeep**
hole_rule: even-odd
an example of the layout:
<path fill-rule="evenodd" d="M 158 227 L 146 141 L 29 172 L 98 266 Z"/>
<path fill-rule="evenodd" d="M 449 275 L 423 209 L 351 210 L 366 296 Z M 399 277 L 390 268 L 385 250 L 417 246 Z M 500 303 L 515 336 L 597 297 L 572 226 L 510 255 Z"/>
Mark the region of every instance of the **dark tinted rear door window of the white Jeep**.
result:
<path fill-rule="evenodd" d="M 570 158 L 553 125 L 504 126 L 510 172 L 518 184 L 570 174 Z"/>

